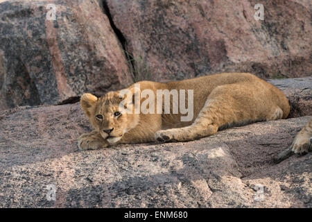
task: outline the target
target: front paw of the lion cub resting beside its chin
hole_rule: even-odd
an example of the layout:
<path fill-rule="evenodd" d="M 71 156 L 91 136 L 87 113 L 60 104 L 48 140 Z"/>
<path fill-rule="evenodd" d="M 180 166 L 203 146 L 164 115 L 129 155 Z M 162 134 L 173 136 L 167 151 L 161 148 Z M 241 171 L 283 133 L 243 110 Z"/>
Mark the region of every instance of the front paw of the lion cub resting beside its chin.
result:
<path fill-rule="evenodd" d="M 96 150 L 107 147 L 107 142 L 99 133 L 85 133 L 78 138 L 78 147 L 80 150 Z"/>

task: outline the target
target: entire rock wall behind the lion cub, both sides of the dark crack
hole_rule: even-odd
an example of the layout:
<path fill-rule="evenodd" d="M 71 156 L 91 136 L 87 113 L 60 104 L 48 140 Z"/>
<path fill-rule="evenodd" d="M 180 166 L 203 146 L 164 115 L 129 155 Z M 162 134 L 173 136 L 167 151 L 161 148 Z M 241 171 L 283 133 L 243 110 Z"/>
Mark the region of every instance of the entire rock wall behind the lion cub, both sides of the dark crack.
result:
<path fill-rule="evenodd" d="M 311 76 L 310 14 L 310 1 L 295 0 L 0 1 L 0 110 L 69 103 L 142 79 Z"/>

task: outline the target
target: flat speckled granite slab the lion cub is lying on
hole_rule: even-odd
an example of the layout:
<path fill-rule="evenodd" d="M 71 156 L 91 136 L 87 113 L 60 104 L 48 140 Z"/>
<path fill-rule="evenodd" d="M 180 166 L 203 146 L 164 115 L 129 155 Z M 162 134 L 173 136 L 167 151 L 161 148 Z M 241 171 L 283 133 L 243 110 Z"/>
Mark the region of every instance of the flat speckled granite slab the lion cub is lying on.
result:
<path fill-rule="evenodd" d="M 288 81 L 274 80 L 310 84 Z M 2 111 L 0 207 L 312 207 L 312 154 L 273 162 L 311 118 L 82 152 L 77 138 L 92 128 L 78 103 Z"/>

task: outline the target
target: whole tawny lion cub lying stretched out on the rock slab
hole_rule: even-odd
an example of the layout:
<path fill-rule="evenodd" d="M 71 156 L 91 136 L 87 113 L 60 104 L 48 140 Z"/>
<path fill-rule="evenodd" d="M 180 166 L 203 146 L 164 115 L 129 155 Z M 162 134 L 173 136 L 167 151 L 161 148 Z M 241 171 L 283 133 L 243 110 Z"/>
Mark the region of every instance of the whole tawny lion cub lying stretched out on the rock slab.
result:
<path fill-rule="evenodd" d="M 78 139 L 83 150 L 119 143 L 187 142 L 221 128 L 285 119 L 290 112 L 281 90 L 247 73 L 141 81 L 100 98 L 83 94 L 80 103 L 94 126 Z"/>

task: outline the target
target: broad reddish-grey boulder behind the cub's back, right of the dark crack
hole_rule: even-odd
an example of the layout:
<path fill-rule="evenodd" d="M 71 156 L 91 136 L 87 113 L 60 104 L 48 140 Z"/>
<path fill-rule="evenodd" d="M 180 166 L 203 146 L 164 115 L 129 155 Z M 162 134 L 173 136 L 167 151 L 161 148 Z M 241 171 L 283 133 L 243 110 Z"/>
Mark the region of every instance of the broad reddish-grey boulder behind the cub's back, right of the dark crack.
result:
<path fill-rule="evenodd" d="M 311 1 L 104 2 L 138 69 L 149 67 L 152 79 L 222 71 L 263 78 L 312 74 Z M 257 3 L 263 3 L 263 21 L 254 19 Z"/>

